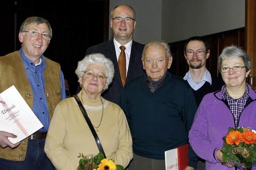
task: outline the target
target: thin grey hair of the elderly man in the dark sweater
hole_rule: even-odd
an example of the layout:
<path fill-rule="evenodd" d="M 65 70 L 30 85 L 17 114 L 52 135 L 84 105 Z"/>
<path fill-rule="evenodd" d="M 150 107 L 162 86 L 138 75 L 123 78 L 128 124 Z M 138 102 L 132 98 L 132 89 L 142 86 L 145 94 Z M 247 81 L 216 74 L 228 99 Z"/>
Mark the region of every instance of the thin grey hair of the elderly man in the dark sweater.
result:
<path fill-rule="evenodd" d="M 159 46 L 162 46 L 164 48 L 164 50 L 166 51 L 166 57 L 167 58 L 170 58 L 170 56 L 172 56 L 170 46 L 167 42 L 165 42 L 164 40 L 153 40 L 153 41 L 149 42 L 147 45 L 144 46 L 141 61 L 144 59 L 144 56 L 146 55 L 146 52 L 147 52 L 148 48 L 150 48 L 150 47 L 159 47 Z"/>

